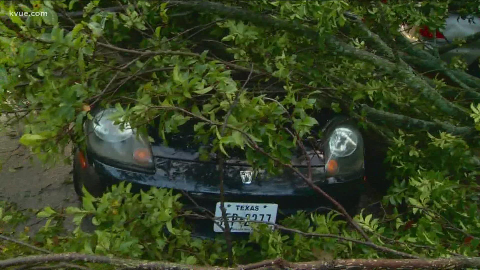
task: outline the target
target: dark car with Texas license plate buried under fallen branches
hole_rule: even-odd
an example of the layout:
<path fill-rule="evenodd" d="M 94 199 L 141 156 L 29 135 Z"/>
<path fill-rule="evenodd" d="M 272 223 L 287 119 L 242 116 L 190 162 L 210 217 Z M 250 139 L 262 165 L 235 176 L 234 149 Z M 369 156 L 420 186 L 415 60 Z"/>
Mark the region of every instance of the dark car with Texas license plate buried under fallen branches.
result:
<path fill-rule="evenodd" d="M 192 203 L 193 199 L 200 207 L 221 216 L 216 156 L 207 161 L 200 158 L 193 120 L 182 125 L 180 133 L 170 134 L 166 146 L 155 125 L 148 132 L 154 138 L 151 143 L 128 125 L 121 130 L 109 120 L 114 112 L 115 109 L 97 111 L 93 120 L 84 123 L 86 151 L 77 149 L 74 158 L 77 194 L 81 196 L 85 186 L 92 195 L 101 196 L 108 186 L 126 181 L 132 183 L 132 191 L 155 186 L 188 194 L 182 196 L 186 208 L 201 211 Z M 364 184 L 362 136 L 355 123 L 331 111 L 322 111 L 316 119 L 323 131 L 318 144 L 322 149 L 313 151 L 311 144 L 305 144 L 314 182 L 346 207 L 355 207 Z M 232 219 L 276 222 L 298 210 L 315 211 L 328 205 L 293 172 L 269 175 L 253 171 L 243 151 L 230 151 L 229 156 L 224 165 L 224 190 L 225 207 Z M 292 164 L 300 172 L 307 171 L 301 151 Z M 231 229 L 235 233 L 251 231 L 245 222 L 233 222 Z M 211 220 L 196 221 L 194 230 L 201 235 L 222 231 Z"/>

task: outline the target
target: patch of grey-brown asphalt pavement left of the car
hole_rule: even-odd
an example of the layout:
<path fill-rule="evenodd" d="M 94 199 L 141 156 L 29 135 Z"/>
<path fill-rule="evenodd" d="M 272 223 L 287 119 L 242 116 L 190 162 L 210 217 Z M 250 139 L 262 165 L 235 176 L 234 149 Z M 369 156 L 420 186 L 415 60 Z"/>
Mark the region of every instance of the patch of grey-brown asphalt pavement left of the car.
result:
<path fill-rule="evenodd" d="M 0 200 L 13 202 L 21 210 L 79 206 L 73 190 L 72 166 L 63 161 L 46 166 L 35 157 L 32 162 L 29 149 L 19 143 L 21 128 L 5 126 L 3 117 L 0 122 Z M 31 223 L 35 219 L 27 222 Z"/>

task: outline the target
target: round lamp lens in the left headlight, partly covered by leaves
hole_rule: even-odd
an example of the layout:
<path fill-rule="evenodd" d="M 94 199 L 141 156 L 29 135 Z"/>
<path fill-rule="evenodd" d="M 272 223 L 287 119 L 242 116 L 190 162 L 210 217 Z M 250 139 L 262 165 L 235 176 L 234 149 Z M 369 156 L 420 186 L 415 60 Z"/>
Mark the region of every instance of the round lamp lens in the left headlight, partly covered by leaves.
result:
<path fill-rule="evenodd" d="M 115 113 L 115 109 L 103 110 L 96 114 L 93 119 L 93 128 L 95 134 L 102 140 L 110 143 L 118 143 L 130 138 L 133 135 L 130 124 L 126 123 L 124 129 L 120 130 L 120 125 L 114 124 L 110 116 Z"/>

